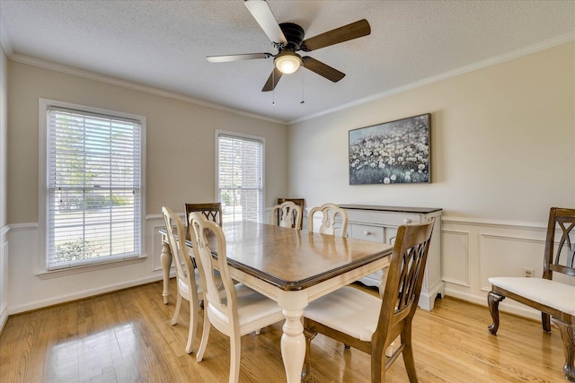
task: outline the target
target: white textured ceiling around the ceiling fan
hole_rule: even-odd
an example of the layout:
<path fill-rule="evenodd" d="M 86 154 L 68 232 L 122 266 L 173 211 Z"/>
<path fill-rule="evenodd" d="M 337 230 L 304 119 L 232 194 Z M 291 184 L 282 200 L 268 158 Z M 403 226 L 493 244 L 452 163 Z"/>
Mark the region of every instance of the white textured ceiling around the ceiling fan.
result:
<path fill-rule="evenodd" d="M 0 0 L 0 30 L 16 60 L 39 58 L 283 122 L 575 36 L 575 1 L 268 3 L 278 22 L 300 24 L 306 38 L 364 18 L 372 32 L 308 54 L 345 73 L 339 83 L 300 69 L 262 92 L 271 58 L 205 58 L 275 53 L 241 0 Z"/>

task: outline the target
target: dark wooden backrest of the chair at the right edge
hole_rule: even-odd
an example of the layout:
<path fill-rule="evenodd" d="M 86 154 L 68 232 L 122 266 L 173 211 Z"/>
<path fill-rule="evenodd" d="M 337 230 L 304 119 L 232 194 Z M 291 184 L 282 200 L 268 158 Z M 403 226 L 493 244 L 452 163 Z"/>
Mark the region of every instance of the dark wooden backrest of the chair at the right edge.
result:
<path fill-rule="evenodd" d="M 543 277 L 553 279 L 553 272 L 575 276 L 575 209 L 552 207 L 547 225 Z M 561 239 L 555 240 L 555 233 Z M 557 246 L 555 247 L 555 243 Z"/>

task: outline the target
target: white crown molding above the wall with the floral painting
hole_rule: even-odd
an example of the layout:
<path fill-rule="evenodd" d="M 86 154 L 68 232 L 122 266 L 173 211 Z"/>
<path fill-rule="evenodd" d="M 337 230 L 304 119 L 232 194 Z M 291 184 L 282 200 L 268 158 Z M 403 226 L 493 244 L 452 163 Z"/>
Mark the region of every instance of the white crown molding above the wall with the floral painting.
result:
<path fill-rule="evenodd" d="M 397 94 L 397 93 L 402 93 L 403 91 L 411 91 L 413 89 L 420 88 L 421 86 L 428 85 L 430 83 L 438 83 L 440 81 L 447 80 L 448 78 L 455 77 L 455 76 L 458 76 L 460 74 L 466 74 L 469 72 L 473 72 L 477 69 L 485 68 L 487 66 L 504 63 L 506 61 L 513 60 L 513 59 L 518 58 L 518 57 L 530 55 L 530 54 L 538 52 L 540 50 L 544 50 L 547 48 L 553 48 L 553 47 L 556 47 L 558 45 L 562 45 L 562 44 L 565 44 L 565 43 L 568 43 L 568 42 L 574 41 L 574 40 L 575 40 L 575 33 L 567 33 L 565 35 L 558 36 L 558 37 L 553 38 L 553 39 L 548 39 L 548 40 L 545 40 L 545 41 L 540 42 L 538 44 L 531 45 L 531 46 L 526 47 L 526 48 L 520 48 L 520 49 L 511 51 L 509 53 L 500 55 L 500 56 L 491 57 L 491 58 L 479 61 L 477 63 L 473 63 L 471 65 L 462 66 L 460 68 L 454 69 L 452 71 L 448 71 L 448 72 L 443 73 L 443 74 L 434 75 L 434 76 L 425 78 L 423 80 L 417 81 L 415 83 L 409 83 L 407 85 L 400 86 L 400 87 L 391 89 L 389 91 L 376 93 L 376 94 L 369 96 L 369 97 L 366 97 L 364 99 L 351 101 L 347 104 L 340 105 L 339 107 L 323 110 L 321 112 L 314 113 L 312 115 L 305 116 L 303 118 L 296 118 L 296 119 L 288 121 L 288 125 L 293 125 L 293 124 L 296 124 L 298 122 L 306 121 L 308 119 L 313 119 L 313 118 L 318 118 L 318 117 L 322 117 L 325 115 L 329 115 L 329 114 L 332 114 L 332 113 L 337 112 L 337 111 L 349 109 L 349 108 L 356 107 L 356 106 L 362 105 L 362 104 L 367 104 L 368 102 L 371 102 L 371 101 L 385 99 L 386 97 L 393 96 L 394 94 Z"/>

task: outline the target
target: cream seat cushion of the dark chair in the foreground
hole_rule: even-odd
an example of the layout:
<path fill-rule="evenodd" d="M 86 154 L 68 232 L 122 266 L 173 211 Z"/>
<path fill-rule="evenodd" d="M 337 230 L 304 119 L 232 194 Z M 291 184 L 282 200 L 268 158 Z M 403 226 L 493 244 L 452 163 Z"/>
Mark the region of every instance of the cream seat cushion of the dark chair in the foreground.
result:
<path fill-rule="evenodd" d="M 381 300 L 353 287 L 341 289 L 312 301 L 304 317 L 362 341 L 371 341 L 376 332 Z"/>

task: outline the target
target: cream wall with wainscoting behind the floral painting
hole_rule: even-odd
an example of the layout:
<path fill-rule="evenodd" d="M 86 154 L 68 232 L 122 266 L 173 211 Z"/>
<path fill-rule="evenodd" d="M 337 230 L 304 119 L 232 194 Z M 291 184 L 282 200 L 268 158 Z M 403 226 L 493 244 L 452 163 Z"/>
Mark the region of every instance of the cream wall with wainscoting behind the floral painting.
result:
<path fill-rule="evenodd" d="M 575 206 L 574 93 L 570 42 L 296 123 L 290 194 L 443 208 L 447 295 L 485 304 L 487 277 L 540 274 L 549 208 Z M 349 130 L 428 112 L 432 183 L 349 186 Z"/>

